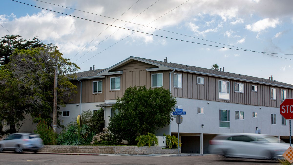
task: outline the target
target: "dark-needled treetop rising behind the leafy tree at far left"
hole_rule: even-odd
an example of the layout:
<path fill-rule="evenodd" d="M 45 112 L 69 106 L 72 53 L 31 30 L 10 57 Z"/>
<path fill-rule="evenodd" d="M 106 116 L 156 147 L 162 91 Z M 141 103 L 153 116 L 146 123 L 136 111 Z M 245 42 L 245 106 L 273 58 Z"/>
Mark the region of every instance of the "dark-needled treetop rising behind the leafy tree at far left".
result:
<path fill-rule="evenodd" d="M 28 49 L 28 48 L 37 48 L 43 46 L 40 38 L 34 37 L 32 40 L 23 40 L 20 38 L 22 36 L 8 36 L 5 35 L 0 41 L 0 65 L 5 65 L 9 63 L 9 57 L 12 55 L 13 50 L 15 49 Z"/>

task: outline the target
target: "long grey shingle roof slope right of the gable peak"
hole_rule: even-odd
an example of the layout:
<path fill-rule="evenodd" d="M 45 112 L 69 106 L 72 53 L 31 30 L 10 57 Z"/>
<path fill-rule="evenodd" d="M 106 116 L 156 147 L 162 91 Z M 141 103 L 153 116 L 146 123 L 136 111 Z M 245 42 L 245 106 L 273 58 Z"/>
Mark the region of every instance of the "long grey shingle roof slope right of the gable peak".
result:
<path fill-rule="evenodd" d="M 150 60 L 147 58 L 140 58 L 140 57 L 134 57 L 138 58 L 141 60 L 146 60 L 152 63 L 157 63 L 160 65 L 164 65 L 170 68 L 177 68 L 177 69 L 184 69 L 184 70 L 190 70 L 190 71 L 195 71 L 195 72 L 202 72 L 202 73 L 207 73 L 207 74 L 213 74 L 213 75 L 219 75 L 219 76 L 226 76 L 226 77 L 231 77 L 231 78 L 236 78 L 236 79 L 243 79 L 243 80 L 250 80 L 250 81 L 257 81 L 260 83 L 270 83 L 270 84 L 275 84 L 275 85 L 284 85 L 288 87 L 293 87 L 291 84 L 287 83 L 282 83 L 278 81 L 272 81 L 268 80 L 265 78 L 257 78 L 253 76 L 248 76 L 248 75 L 241 75 L 241 74 L 236 74 L 236 73 L 229 73 L 229 72 L 220 72 L 219 70 L 212 70 L 212 69 L 207 69 L 207 68 L 200 68 L 196 66 L 188 66 L 188 65 L 182 65 L 182 64 L 176 64 L 176 63 L 166 63 L 163 61 L 157 61 L 157 60 Z"/>

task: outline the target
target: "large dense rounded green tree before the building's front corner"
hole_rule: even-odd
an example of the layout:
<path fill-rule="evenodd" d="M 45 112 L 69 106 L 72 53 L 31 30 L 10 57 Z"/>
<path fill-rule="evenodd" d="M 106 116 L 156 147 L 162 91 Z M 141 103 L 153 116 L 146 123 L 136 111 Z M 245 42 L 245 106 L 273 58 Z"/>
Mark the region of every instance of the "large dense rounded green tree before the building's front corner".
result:
<path fill-rule="evenodd" d="M 126 140 L 129 144 L 136 144 L 137 136 L 155 134 L 158 128 L 170 125 L 175 104 L 176 98 L 163 87 L 129 87 L 113 105 L 118 113 L 110 118 L 108 129 L 116 135 L 118 141 Z"/>

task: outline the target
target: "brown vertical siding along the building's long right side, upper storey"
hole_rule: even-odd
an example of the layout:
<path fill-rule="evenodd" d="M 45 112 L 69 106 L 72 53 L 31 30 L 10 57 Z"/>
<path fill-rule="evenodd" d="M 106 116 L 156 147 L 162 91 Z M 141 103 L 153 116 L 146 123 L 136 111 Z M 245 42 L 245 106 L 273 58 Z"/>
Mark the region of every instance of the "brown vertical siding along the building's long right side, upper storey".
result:
<path fill-rule="evenodd" d="M 182 88 L 174 87 L 172 74 L 172 94 L 175 97 L 192 98 L 200 100 L 230 102 L 246 105 L 267 107 L 280 107 L 281 90 L 287 91 L 287 98 L 292 98 L 292 89 L 276 86 L 224 79 L 213 76 L 199 75 L 195 73 L 178 72 L 182 75 Z M 197 77 L 204 78 L 204 85 L 197 84 Z M 219 80 L 230 82 L 230 100 L 219 99 Z M 234 83 L 244 84 L 244 93 L 234 92 Z M 252 85 L 257 85 L 257 92 L 252 91 Z M 276 100 L 270 99 L 270 88 L 276 88 Z"/>

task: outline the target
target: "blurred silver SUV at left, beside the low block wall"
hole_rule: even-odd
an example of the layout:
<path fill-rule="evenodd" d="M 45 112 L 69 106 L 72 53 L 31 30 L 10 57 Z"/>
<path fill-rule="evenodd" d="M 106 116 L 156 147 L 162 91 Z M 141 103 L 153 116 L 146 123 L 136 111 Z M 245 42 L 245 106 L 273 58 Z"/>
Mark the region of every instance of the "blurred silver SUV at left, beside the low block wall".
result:
<path fill-rule="evenodd" d="M 14 150 L 17 153 L 22 151 L 38 152 L 44 147 L 43 140 L 38 134 L 15 133 L 10 134 L 6 139 L 0 141 L 0 152 Z"/>

